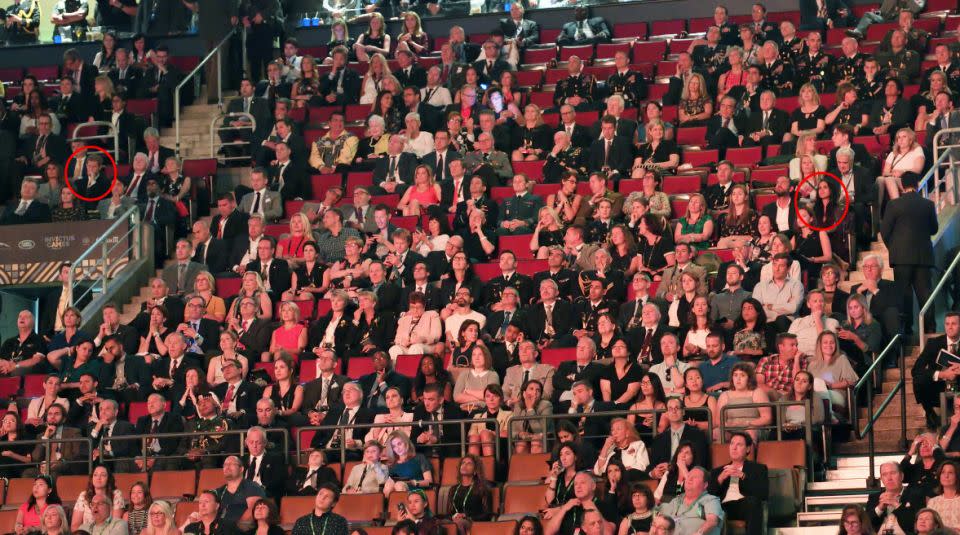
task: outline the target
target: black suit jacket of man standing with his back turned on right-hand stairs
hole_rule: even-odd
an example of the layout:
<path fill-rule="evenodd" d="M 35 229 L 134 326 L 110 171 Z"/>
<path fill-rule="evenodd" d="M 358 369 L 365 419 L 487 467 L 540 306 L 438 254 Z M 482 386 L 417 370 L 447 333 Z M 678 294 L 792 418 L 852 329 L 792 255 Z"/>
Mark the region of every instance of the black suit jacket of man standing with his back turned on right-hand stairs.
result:
<path fill-rule="evenodd" d="M 887 203 L 880 234 L 890 251 L 890 265 L 933 266 L 933 242 L 937 233 L 937 209 L 933 201 L 916 191 Z"/>

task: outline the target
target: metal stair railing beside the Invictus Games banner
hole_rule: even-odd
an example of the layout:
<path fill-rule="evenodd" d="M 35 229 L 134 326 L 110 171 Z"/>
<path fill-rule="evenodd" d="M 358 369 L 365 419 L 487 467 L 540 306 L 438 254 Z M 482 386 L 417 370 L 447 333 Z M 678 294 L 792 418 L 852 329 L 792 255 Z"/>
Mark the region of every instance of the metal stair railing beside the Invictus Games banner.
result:
<path fill-rule="evenodd" d="M 114 236 L 114 232 L 120 228 L 123 223 L 130 226 L 126 232 L 119 236 Z M 113 245 L 110 241 L 116 240 Z M 118 247 L 125 247 L 115 252 Z M 129 263 L 132 260 L 139 260 L 142 253 L 140 247 L 140 209 L 132 206 L 123 213 L 99 238 L 90 244 L 87 249 L 80 253 L 73 260 L 67 278 L 67 287 L 70 288 L 70 306 L 76 306 L 76 303 L 84 302 L 87 294 L 92 294 L 99 290 L 106 293 L 109 285 L 111 267 L 119 265 L 126 260 Z M 74 273 L 79 270 L 80 277 L 77 278 Z M 94 283 L 81 291 L 79 284 L 81 281 L 93 280 Z M 99 282 L 99 286 L 97 284 Z"/>

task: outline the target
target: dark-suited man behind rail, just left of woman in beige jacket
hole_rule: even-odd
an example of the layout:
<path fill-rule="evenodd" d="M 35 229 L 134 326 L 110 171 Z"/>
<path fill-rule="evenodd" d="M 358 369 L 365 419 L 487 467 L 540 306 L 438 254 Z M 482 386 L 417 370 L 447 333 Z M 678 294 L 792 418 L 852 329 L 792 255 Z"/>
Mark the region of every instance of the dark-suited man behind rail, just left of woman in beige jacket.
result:
<path fill-rule="evenodd" d="M 423 389 L 420 403 L 413 409 L 413 421 L 422 422 L 422 425 L 413 428 L 410 440 L 418 451 L 456 457 L 460 455 L 460 425 L 443 422 L 466 417 L 457 404 L 443 400 L 439 385 L 428 384 Z"/>

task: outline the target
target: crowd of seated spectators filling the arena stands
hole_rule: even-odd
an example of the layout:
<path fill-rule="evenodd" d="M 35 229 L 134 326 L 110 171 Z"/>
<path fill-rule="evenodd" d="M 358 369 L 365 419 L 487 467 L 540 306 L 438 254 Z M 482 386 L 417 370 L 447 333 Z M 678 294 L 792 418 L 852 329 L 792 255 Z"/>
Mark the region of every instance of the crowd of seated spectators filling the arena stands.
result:
<path fill-rule="evenodd" d="M 21 311 L 0 346 L 0 376 L 44 377 L 43 395 L 11 402 L 0 425 L 11 442 L 0 445 L 0 470 L 36 477 L 18 529 L 264 535 L 279 529 L 285 497 L 315 496 L 294 535 L 339 535 L 352 533 L 333 512 L 342 493 L 405 492 L 404 507 L 388 512 L 395 533 L 439 533 L 442 519 L 466 534 L 493 518 L 513 448 L 550 454 L 542 510 L 517 533 L 719 535 L 727 519 L 762 533 L 770 489 L 756 449 L 847 422 L 853 386 L 913 327 L 914 295 L 923 303 L 931 290 L 936 207 L 917 192 L 930 154 L 916 130 L 929 140 L 956 120 L 960 46 L 938 45 L 941 70 L 921 73 L 916 10 L 897 5 L 892 18 L 865 15 L 839 57 L 821 35 L 853 22 L 839 12 L 804 12 L 811 29 L 800 36 L 789 20 L 768 22 L 762 4 L 740 27 L 718 6 L 662 99 L 649 98 L 650 80 L 618 51 L 606 80 L 585 71 L 588 59 L 567 58 L 543 107 L 516 79 L 539 44 L 519 3 L 480 46 L 451 28 L 429 68 L 419 64 L 433 49 L 418 13 L 402 14 L 393 46 L 375 11 L 356 40 L 332 25 L 329 57 L 300 55 L 288 39 L 279 59 L 251 58 L 258 67 L 228 111 L 249 113 L 257 128 L 224 134 L 246 136 L 249 184 L 219 195 L 212 220 L 192 222 L 188 203 L 209 199 L 193 198 L 195 177 L 153 129 L 128 127 L 130 175 L 103 200 L 63 186 L 66 172 L 82 195 L 108 189 L 97 154 L 63 170 L 65 125 L 103 117 L 122 129 L 125 95 L 156 95 L 162 109 L 179 77 L 162 46 L 138 60 L 136 46 L 127 52 L 111 37 L 99 65 L 68 51 L 58 105 L 24 91 L 8 112 L 19 121 L 3 122 L 2 135 L 20 139 L 19 165 L 39 179 L 22 180 L 0 217 L 109 219 L 139 206 L 146 223 L 173 227 L 174 241 L 158 248 L 172 250 L 170 262 L 132 321 L 108 304 L 96 328 L 81 328 L 64 286 L 44 317 Z M 251 15 L 245 23 L 261 24 L 262 13 Z M 870 23 L 893 19 L 900 27 L 886 48 L 858 50 Z M 611 38 L 578 7 L 558 42 Z M 128 79 L 138 61 L 151 66 Z M 361 74 L 358 63 L 369 68 Z M 916 83 L 923 90 L 906 98 Z M 834 91 L 828 110 L 821 96 Z M 776 107 L 794 97 L 795 109 Z M 369 106 L 362 137 L 346 113 L 360 105 Z M 307 135 L 304 108 L 326 108 L 322 134 Z M 559 113 L 557 126 L 548 113 Z M 597 119 L 581 124 L 578 114 Z M 705 130 L 702 147 L 679 139 L 693 128 Z M 868 151 L 860 132 L 890 144 Z M 781 164 L 763 206 L 761 188 L 726 159 L 750 147 Z M 716 181 L 676 204 L 664 190 L 699 149 L 718 151 Z M 531 163 L 542 172 L 526 171 Z M 823 170 L 840 183 L 807 179 Z M 348 191 L 357 171 L 371 178 Z M 334 183 L 313 191 L 315 174 Z M 540 195 L 538 183 L 556 188 Z M 289 225 L 279 238 L 278 222 Z M 893 281 L 882 256 L 858 263 L 856 245 L 880 237 Z M 842 285 L 857 269 L 860 282 Z M 912 369 L 931 433 L 881 468 L 884 491 L 845 510 L 841 531 L 960 527 L 949 460 L 960 452 L 960 402 L 952 416 L 937 413 L 960 366 L 936 364 L 940 350 L 958 353 L 960 313 L 944 325 Z M 146 414 L 130 418 L 134 404 Z M 301 444 L 306 458 L 288 462 L 271 430 L 304 427 L 320 429 Z M 194 434 L 121 438 L 176 432 Z M 74 440 L 17 444 L 32 438 Z M 710 463 L 715 441 L 728 443 L 728 461 Z M 441 480 L 433 461 L 451 457 L 456 483 L 431 511 Z M 74 497 L 57 497 L 50 478 L 85 474 L 88 458 L 96 468 L 68 520 L 58 503 Z M 485 473 L 489 459 L 504 462 Z M 342 478 L 331 468 L 350 461 Z M 203 468 L 222 468 L 225 485 L 199 489 L 182 526 L 144 483 L 114 483 L 118 473 Z"/>

